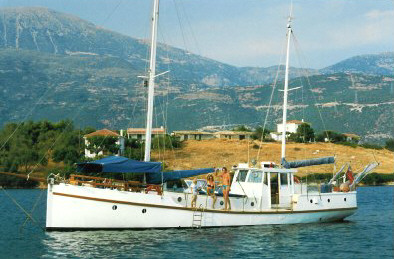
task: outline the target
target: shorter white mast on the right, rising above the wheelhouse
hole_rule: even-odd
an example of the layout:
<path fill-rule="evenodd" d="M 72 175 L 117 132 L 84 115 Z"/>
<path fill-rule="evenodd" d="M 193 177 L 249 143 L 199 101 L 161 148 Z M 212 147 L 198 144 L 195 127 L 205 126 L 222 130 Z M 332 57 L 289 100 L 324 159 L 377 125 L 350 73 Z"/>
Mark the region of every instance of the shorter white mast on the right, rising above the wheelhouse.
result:
<path fill-rule="evenodd" d="M 292 8 L 291 8 L 292 9 Z M 287 23 L 287 51 L 286 51 L 286 71 L 285 71 L 285 88 L 283 90 L 283 118 L 282 118 L 282 156 L 281 160 L 286 157 L 286 123 L 287 123 L 287 95 L 289 91 L 289 56 L 290 56 L 290 37 L 291 29 L 291 11 Z"/>

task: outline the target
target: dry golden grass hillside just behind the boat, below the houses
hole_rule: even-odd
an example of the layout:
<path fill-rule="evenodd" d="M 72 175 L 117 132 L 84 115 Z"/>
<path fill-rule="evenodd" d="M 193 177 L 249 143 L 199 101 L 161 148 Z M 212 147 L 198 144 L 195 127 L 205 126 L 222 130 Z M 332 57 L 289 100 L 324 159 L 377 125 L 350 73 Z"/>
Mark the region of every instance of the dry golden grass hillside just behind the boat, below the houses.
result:
<path fill-rule="evenodd" d="M 260 142 L 249 142 L 247 140 L 188 140 L 184 142 L 184 147 L 177 150 L 170 150 L 160 154 L 155 152 L 153 158 L 164 161 L 165 164 L 174 170 L 204 168 L 204 167 L 223 167 L 231 168 L 238 163 L 256 159 L 259 149 L 253 148 Z M 258 162 L 274 161 L 279 164 L 280 143 L 263 143 Z M 337 167 L 351 161 L 354 172 L 358 172 L 365 165 L 376 160 L 380 166 L 375 170 L 377 173 L 394 172 L 394 153 L 388 150 L 373 150 L 361 147 L 352 148 L 343 145 L 316 143 L 316 144 L 294 144 L 287 145 L 287 160 L 307 159 L 324 156 L 337 156 Z M 299 175 L 310 173 L 332 173 L 333 165 L 311 166 L 299 168 Z"/>

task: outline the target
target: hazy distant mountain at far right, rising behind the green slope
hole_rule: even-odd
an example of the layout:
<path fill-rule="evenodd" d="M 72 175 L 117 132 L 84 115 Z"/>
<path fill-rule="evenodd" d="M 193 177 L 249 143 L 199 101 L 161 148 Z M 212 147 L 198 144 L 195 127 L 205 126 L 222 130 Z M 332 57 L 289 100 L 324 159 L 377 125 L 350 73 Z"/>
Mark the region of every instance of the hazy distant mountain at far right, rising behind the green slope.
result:
<path fill-rule="evenodd" d="M 394 52 L 360 55 L 345 59 L 320 70 L 321 73 L 364 73 L 371 75 L 394 75 Z"/>

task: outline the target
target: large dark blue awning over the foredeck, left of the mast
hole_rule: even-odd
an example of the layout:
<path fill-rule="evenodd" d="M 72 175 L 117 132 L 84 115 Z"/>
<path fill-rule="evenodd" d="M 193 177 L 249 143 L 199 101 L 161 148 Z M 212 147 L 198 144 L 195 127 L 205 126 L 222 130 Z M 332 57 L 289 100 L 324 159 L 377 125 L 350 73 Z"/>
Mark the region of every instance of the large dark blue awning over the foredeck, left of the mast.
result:
<path fill-rule="evenodd" d="M 78 163 L 82 173 L 160 173 L 160 162 L 142 162 L 122 156 L 108 156 L 92 162 Z"/>

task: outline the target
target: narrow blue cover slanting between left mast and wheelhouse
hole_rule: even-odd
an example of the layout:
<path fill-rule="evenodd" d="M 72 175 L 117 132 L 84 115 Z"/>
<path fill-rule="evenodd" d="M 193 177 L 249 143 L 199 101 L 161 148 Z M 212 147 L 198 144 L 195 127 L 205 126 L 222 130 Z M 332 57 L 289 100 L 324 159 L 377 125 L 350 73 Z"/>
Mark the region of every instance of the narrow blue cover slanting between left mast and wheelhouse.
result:
<path fill-rule="evenodd" d="M 162 174 L 150 174 L 147 175 L 146 181 L 151 184 L 158 184 L 161 182 L 174 181 L 182 178 L 192 177 L 201 174 L 207 174 L 214 172 L 214 168 L 201 168 L 195 170 L 180 170 L 172 172 L 163 172 Z"/>

